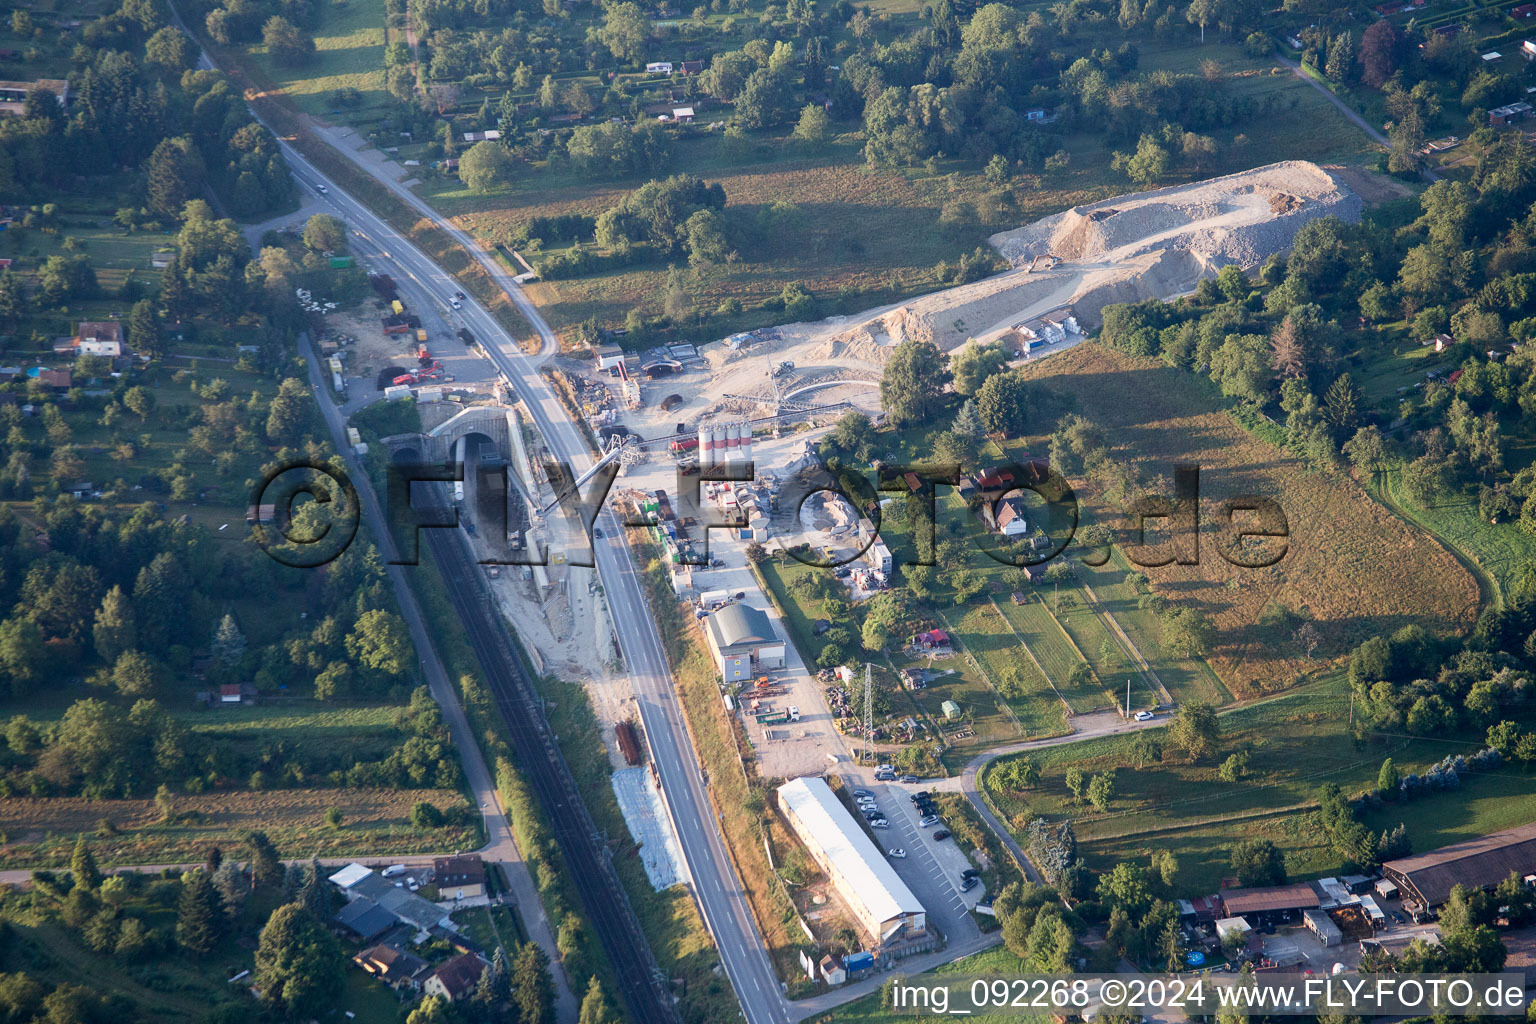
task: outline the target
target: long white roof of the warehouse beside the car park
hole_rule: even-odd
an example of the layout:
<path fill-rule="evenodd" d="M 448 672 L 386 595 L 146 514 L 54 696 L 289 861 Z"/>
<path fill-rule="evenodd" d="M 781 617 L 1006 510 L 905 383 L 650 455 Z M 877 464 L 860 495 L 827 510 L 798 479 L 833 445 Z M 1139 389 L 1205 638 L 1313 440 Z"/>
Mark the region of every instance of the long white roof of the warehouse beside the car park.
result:
<path fill-rule="evenodd" d="M 800 838 L 820 846 L 826 858 L 837 864 L 852 889 L 848 895 L 863 903 L 869 918 L 889 921 L 902 913 L 925 913 L 923 904 L 825 780 L 790 780 L 779 786 L 779 801 L 809 832 Z"/>

